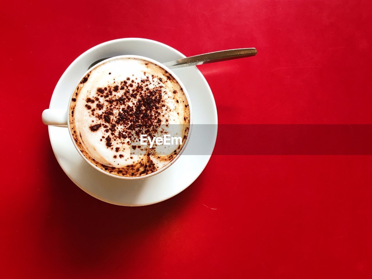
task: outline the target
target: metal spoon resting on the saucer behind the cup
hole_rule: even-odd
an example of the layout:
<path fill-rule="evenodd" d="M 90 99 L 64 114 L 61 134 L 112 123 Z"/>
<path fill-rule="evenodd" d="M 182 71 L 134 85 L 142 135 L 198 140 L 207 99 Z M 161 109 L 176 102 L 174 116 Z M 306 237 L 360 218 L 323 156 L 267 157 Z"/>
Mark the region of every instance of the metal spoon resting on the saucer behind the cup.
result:
<path fill-rule="evenodd" d="M 168 68 L 182 68 L 182 67 L 189 67 L 189 66 L 196 66 L 201 64 L 207 63 L 214 63 L 219 61 L 226 61 L 232 60 L 237 58 L 244 58 L 244 57 L 251 57 L 257 54 L 257 49 L 255 48 L 237 48 L 237 49 L 229 49 L 223 51 L 215 51 L 209 52 L 206 54 L 195 55 L 191 57 L 186 57 L 174 61 L 169 61 L 163 63 Z M 92 68 L 94 65 L 98 64 L 99 62 L 109 59 L 110 57 L 99 59 L 92 63 L 88 67 L 88 70 Z"/>

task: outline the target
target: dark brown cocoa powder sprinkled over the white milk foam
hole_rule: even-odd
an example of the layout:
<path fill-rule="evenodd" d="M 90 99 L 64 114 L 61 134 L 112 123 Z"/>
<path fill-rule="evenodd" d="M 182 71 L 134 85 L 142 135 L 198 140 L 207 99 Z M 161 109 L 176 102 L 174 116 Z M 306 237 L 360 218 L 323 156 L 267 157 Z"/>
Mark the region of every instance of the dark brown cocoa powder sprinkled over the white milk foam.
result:
<path fill-rule="evenodd" d="M 81 82 L 86 83 L 88 77 L 83 78 Z M 126 157 L 126 159 L 123 154 L 120 154 L 125 150 L 116 147 L 117 145 L 122 146 L 123 144 L 129 144 L 129 142 L 135 143 L 141 134 L 150 136 L 159 132 L 164 115 L 167 111 L 170 111 L 163 99 L 163 94 L 165 93 L 161 83 L 174 80 L 173 77 L 169 76 L 168 72 L 166 72 L 164 77 L 166 77 L 166 80 L 154 75 L 150 77 L 150 74 L 146 73 L 138 80 L 137 78 L 134 80 L 126 77 L 125 80 L 116 80 L 106 87 L 98 87 L 95 91 L 92 90 L 90 97 L 85 100 L 85 107 L 90 110 L 94 119 L 92 122 L 101 122 L 89 126 L 90 131 L 97 132 L 103 127 L 100 130 L 100 132 L 103 132 L 100 140 L 104 139 L 106 148 L 117 153 L 117 155 L 113 155 L 113 158 L 118 162 L 120 160 L 129 160 L 129 158 Z M 173 93 L 176 94 L 177 90 L 174 90 Z M 71 100 L 76 102 L 76 98 Z M 179 103 L 178 100 L 176 102 Z M 94 107 L 93 109 L 92 106 Z M 138 144 L 139 142 L 137 145 L 131 145 L 131 149 L 143 151 L 143 147 Z M 131 152 L 134 152 L 132 150 Z M 175 150 L 174 154 L 171 154 L 168 159 L 171 160 L 171 158 L 175 157 L 177 152 Z M 132 156 L 130 160 L 133 160 Z M 118 173 L 124 176 L 142 176 L 157 170 L 150 158 L 150 152 L 139 163 L 129 164 L 125 167 L 116 168 L 100 165 L 110 173 Z"/>

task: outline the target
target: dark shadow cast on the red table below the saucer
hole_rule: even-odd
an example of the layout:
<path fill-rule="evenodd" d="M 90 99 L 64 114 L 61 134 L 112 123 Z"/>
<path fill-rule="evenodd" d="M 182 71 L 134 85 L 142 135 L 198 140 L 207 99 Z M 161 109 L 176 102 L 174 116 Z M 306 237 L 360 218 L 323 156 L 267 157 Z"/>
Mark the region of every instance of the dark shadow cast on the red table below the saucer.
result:
<path fill-rule="evenodd" d="M 45 212 L 45 234 L 41 235 L 40 245 L 63 267 L 61 272 L 98 272 L 118 264 L 121 269 L 130 267 L 136 260 L 136 250 L 151 239 L 161 239 L 162 226 L 179 217 L 195 192 L 195 187 L 190 186 L 154 205 L 112 205 L 93 198 L 71 182 L 52 150 L 46 160 L 50 206 Z"/>

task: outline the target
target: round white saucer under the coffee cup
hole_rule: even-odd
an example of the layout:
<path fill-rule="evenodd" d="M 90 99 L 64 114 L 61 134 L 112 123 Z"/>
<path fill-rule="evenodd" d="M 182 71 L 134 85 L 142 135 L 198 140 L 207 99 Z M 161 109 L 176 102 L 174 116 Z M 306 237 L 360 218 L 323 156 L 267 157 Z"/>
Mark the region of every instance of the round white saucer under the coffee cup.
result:
<path fill-rule="evenodd" d="M 117 55 L 142 55 L 159 62 L 185 57 L 182 53 L 156 41 L 139 38 L 117 39 L 97 45 L 81 54 L 67 68 L 54 89 L 49 108 L 66 109 L 78 79 L 94 61 Z M 210 150 L 203 154 L 181 155 L 168 169 L 142 180 L 123 180 L 100 173 L 81 158 L 71 141 L 67 128 L 49 126 L 49 138 L 58 163 L 68 177 L 93 197 L 125 206 L 150 205 L 169 199 L 185 190 L 201 174 L 211 157 L 217 137 L 217 109 L 203 75 L 196 67 L 174 69 L 190 95 L 194 124 L 215 124 L 209 137 Z M 203 140 L 201 129 L 192 131 L 190 145 Z"/>

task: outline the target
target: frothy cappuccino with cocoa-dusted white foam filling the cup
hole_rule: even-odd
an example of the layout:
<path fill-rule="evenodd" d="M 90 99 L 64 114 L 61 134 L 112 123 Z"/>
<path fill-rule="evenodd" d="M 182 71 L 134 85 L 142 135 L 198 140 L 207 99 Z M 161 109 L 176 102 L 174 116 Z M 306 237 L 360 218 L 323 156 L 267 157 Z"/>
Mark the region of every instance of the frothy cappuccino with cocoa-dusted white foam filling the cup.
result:
<path fill-rule="evenodd" d="M 119 57 L 94 67 L 80 81 L 70 102 L 69 125 L 92 164 L 117 176 L 137 177 L 177 157 L 189 133 L 190 108 L 168 71 L 146 60 Z M 141 135 L 182 141 L 150 148 Z"/>

